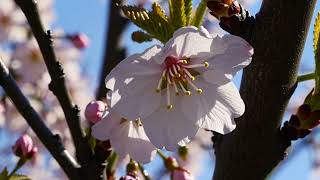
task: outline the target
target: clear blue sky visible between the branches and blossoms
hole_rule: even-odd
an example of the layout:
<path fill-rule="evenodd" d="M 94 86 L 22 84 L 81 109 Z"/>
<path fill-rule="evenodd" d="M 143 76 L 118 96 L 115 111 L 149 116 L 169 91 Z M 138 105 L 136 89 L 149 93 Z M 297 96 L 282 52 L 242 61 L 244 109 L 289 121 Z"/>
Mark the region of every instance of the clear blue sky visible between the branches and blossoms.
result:
<path fill-rule="evenodd" d="M 108 0 L 106 0 L 108 1 Z M 260 4 L 257 3 L 251 9 L 252 14 L 257 12 Z M 103 56 L 104 47 L 104 34 L 106 26 L 106 8 L 105 3 L 101 3 L 99 0 L 91 1 L 78 1 L 78 0 L 68 0 L 56 1 L 57 10 L 57 27 L 62 27 L 66 32 L 84 32 L 91 39 L 91 46 L 85 50 L 83 56 L 83 63 L 86 67 L 86 73 L 90 74 L 92 78 L 92 87 L 95 86 L 97 82 L 97 76 L 100 71 L 100 64 Z M 317 5 L 316 12 L 318 12 L 320 6 Z M 315 13 L 316 14 L 316 13 Z M 315 17 L 313 18 L 314 22 Z M 116 24 L 114 24 L 116 26 Z M 123 42 L 127 45 L 129 49 L 129 54 L 134 52 L 143 51 L 149 44 L 137 44 L 131 41 L 130 32 L 136 29 L 135 26 L 130 26 L 128 32 L 124 36 Z M 312 31 L 312 28 L 310 29 Z M 302 62 L 307 67 L 307 69 L 312 69 L 313 67 L 313 54 L 312 54 L 312 35 L 309 33 L 307 44 L 303 53 Z M 239 82 L 239 77 L 236 78 Z M 302 92 L 303 88 L 298 88 L 298 92 Z M 308 179 L 310 175 L 311 168 L 311 153 L 312 151 L 304 148 L 298 153 L 293 159 L 287 163 L 280 171 L 276 171 L 270 179 L 272 180 L 301 180 Z M 311 155 L 310 155 L 311 154 Z M 209 158 L 208 158 L 209 159 Z M 152 164 L 156 166 L 157 163 Z M 211 179 L 212 175 L 212 162 L 204 162 L 203 167 L 210 168 L 204 169 L 203 176 L 201 179 Z M 150 167 L 152 169 L 152 166 Z M 209 170 L 209 171 L 208 171 Z"/>

